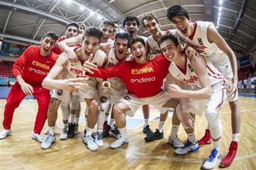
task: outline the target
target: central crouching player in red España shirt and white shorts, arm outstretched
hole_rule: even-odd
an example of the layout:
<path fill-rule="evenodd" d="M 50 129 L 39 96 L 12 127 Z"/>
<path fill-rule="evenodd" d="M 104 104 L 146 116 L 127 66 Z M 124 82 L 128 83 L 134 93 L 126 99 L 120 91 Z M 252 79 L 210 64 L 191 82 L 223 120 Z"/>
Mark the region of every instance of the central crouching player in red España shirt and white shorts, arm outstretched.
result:
<path fill-rule="evenodd" d="M 126 84 L 128 94 L 114 104 L 113 113 L 116 125 L 121 133 L 121 138 L 113 142 L 110 147 L 118 148 L 128 143 L 125 115 L 134 116 L 139 107 L 145 104 L 153 104 L 160 113 L 165 113 L 168 108 L 175 108 L 178 104 L 176 99 L 163 91 L 163 79 L 168 74 L 170 62 L 159 56 L 152 61 L 147 61 L 145 41 L 140 37 L 131 39 L 132 61 L 122 62 L 109 68 L 98 68 L 91 63 L 91 58 L 84 62 L 84 70 L 88 76 L 108 79 L 117 77 Z M 92 71 L 93 70 L 93 71 Z"/>

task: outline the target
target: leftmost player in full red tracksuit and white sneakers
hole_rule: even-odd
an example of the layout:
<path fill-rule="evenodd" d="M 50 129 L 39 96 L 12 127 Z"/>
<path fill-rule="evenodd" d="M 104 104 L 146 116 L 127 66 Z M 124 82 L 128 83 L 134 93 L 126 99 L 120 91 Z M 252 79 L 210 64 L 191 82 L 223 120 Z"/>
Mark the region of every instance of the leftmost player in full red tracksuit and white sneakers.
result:
<path fill-rule="evenodd" d="M 22 99 L 26 95 L 34 95 L 38 102 L 38 113 L 31 138 L 42 142 L 40 133 L 47 118 L 50 91 L 43 88 L 41 84 L 57 60 L 58 55 L 51 51 L 57 40 L 58 35 L 55 32 L 47 32 L 41 38 L 41 46 L 32 45 L 28 47 L 15 61 L 13 75 L 17 82 L 13 85 L 7 97 L 0 139 L 4 139 L 11 134 L 14 110 L 20 105 Z"/>

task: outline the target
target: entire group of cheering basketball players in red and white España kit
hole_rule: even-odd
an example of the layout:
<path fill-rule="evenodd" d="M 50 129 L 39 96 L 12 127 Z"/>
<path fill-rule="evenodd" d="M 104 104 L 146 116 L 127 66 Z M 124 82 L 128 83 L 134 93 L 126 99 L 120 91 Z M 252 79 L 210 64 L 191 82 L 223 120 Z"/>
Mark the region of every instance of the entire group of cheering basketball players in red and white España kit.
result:
<path fill-rule="evenodd" d="M 176 29 L 162 31 L 155 14 L 143 16 L 141 22 L 149 37 L 138 35 L 140 21 L 135 16 L 125 17 L 125 31 L 117 21 L 105 20 L 99 28 L 69 23 L 60 38 L 47 32 L 41 46 L 27 48 L 13 66 L 17 82 L 7 98 L 0 139 L 11 134 L 14 110 L 26 95 L 34 95 L 38 101 L 31 137 L 42 142 L 43 149 L 56 141 L 59 106 L 64 124 L 60 139 L 65 140 L 79 133 L 80 102 L 86 103 L 83 142 L 91 151 L 103 146 L 104 137 L 109 135 L 117 138 L 110 148 L 128 143 L 126 116 L 134 116 L 141 106 L 144 140 L 164 138 L 168 110 L 173 108 L 168 143 L 175 147 L 176 154 L 186 154 L 213 142 L 202 165 L 212 169 L 220 154 L 220 113 L 227 98 L 233 135 L 220 166 L 228 167 L 235 158 L 240 131 L 235 54 L 213 23 L 192 22 L 180 5 L 170 7 L 167 17 Z M 149 105 L 161 113 L 155 132 L 149 126 Z M 195 117 L 204 113 L 208 127 L 197 140 Z M 47 137 L 43 138 L 40 134 L 46 119 Z M 96 124 L 97 132 L 93 134 Z M 185 144 L 177 136 L 180 124 L 188 136 Z"/>

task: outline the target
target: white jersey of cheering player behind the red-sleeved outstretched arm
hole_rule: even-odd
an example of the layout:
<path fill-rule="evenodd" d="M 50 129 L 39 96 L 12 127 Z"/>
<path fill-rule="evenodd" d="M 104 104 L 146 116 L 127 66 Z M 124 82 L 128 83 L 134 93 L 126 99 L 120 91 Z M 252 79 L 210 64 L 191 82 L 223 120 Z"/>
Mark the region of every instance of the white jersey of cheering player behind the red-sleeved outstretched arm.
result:
<path fill-rule="evenodd" d="M 133 60 L 133 57 L 132 57 L 132 55 L 129 55 L 129 54 L 127 54 L 127 56 L 122 61 L 118 60 L 115 55 L 115 48 L 112 48 L 108 54 L 108 60 L 106 63 L 106 67 L 112 67 L 112 66 L 117 65 L 118 63 L 121 63 L 124 61 L 131 61 L 131 60 Z M 111 88 L 113 88 L 116 91 L 126 89 L 126 85 L 119 78 L 113 77 L 113 78 L 109 78 L 107 80 L 110 82 Z"/>

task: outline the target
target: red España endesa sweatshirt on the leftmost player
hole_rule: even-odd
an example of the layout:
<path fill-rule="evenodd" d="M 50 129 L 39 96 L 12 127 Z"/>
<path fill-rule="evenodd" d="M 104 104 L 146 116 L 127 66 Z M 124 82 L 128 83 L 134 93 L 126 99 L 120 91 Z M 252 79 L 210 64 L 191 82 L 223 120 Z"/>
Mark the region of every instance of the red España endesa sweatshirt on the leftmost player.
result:
<path fill-rule="evenodd" d="M 42 83 L 54 66 L 58 55 L 51 52 L 49 56 L 40 54 L 40 45 L 28 47 L 15 61 L 12 72 L 16 78 L 21 75 L 26 83 Z"/>

